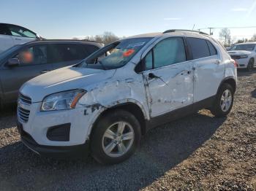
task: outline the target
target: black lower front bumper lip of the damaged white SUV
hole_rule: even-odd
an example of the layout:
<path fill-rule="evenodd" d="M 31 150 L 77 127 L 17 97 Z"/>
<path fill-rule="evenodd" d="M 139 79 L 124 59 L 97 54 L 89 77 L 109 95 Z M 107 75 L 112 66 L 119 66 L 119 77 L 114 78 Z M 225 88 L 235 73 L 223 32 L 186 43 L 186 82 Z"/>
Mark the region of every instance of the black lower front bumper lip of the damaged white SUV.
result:
<path fill-rule="evenodd" d="M 36 152 L 38 155 L 62 159 L 67 157 L 86 157 L 89 154 L 89 141 L 86 141 L 85 144 L 75 146 L 45 146 L 37 144 L 29 133 L 26 133 L 26 131 L 23 130 L 23 125 L 20 122 L 18 122 L 17 128 L 23 144 L 25 144 L 26 147 L 32 151 Z"/>

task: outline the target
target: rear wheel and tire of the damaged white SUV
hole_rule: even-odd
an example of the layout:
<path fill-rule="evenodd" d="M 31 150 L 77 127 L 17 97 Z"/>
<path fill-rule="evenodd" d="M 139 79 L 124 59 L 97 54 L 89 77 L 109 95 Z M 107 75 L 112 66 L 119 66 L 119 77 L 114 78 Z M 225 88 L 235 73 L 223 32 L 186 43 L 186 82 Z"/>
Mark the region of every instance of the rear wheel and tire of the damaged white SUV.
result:
<path fill-rule="evenodd" d="M 228 93 L 228 94 L 227 94 Z M 225 97 L 227 95 L 227 97 Z M 229 114 L 232 109 L 234 101 L 234 90 L 233 87 L 227 83 L 224 83 L 219 88 L 217 97 L 214 101 L 214 105 L 211 108 L 211 113 L 215 117 L 225 117 Z"/>

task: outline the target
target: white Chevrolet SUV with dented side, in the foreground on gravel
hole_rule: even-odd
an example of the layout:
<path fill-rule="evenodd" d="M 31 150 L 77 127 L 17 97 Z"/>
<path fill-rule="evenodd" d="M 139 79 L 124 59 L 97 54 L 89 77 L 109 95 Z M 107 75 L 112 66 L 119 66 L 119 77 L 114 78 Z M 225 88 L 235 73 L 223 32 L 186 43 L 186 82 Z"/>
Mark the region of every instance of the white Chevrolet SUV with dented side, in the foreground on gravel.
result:
<path fill-rule="evenodd" d="M 203 108 L 227 115 L 236 80 L 234 61 L 211 36 L 178 30 L 132 36 L 26 82 L 18 130 L 40 155 L 90 151 L 99 163 L 119 163 L 150 128 Z"/>

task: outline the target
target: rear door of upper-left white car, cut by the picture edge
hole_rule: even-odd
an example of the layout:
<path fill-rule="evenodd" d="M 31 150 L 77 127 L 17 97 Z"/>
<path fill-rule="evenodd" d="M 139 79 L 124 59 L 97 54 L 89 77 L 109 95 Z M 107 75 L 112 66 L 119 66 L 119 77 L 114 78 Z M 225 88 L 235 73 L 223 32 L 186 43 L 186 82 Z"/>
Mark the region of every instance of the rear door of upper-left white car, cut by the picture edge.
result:
<path fill-rule="evenodd" d="M 0 23 L 0 53 L 12 46 L 14 46 L 14 42 L 10 31 L 8 30 L 6 24 Z"/>

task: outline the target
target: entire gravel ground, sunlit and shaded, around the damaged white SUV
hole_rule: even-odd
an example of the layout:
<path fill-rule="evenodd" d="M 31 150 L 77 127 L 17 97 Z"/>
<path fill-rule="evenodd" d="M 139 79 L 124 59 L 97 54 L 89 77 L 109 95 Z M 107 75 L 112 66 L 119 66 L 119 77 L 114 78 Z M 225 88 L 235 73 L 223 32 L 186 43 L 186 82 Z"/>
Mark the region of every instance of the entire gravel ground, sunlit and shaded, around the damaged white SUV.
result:
<path fill-rule="evenodd" d="M 129 160 L 104 166 L 39 157 L 0 117 L 0 190 L 256 190 L 256 71 L 239 72 L 227 118 L 207 110 L 148 132 Z"/>

